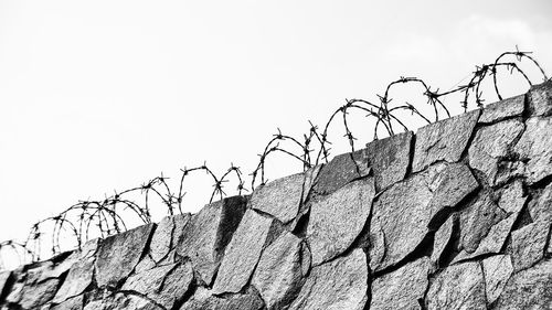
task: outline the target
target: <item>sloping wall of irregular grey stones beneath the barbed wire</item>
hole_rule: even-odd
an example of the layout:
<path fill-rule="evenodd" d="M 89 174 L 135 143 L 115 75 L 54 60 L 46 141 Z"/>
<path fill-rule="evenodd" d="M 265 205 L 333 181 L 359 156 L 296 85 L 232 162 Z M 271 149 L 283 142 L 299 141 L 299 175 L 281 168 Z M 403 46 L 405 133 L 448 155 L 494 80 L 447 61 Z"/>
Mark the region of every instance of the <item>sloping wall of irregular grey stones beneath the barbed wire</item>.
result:
<path fill-rule="evenodd" d="M 0 274 L 2 309 L 552 309 L 552 83 Z"/>

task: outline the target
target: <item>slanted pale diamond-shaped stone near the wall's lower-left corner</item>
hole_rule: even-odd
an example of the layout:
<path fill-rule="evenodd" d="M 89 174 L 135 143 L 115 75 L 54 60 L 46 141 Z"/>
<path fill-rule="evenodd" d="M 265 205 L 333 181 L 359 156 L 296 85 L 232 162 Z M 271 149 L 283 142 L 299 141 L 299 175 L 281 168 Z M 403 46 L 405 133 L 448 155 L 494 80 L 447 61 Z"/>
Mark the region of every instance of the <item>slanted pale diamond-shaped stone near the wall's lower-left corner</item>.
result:
<path fill-rule="evenodd" d="M 62 284 L 53 302 L 61 303 L 62 301 L 81 295 L 92 284 L 94 277 L 94 257 L 78 260 L 68 270 L 65 281 Z"/>

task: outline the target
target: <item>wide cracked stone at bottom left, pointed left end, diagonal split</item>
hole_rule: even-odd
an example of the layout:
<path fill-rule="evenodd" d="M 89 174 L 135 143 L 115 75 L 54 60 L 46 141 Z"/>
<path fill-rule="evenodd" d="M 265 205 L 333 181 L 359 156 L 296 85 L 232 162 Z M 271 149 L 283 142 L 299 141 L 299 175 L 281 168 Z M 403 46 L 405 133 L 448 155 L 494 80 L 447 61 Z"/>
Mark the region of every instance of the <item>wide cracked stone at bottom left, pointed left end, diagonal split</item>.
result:
<path fill-rule="evenodd" d="M 190 263 L 157 267 L 127 279 L 123 291 L 136 291 L 147 296 L 166 309 L 172 309 L 184 297 L 193 280 Z"/>

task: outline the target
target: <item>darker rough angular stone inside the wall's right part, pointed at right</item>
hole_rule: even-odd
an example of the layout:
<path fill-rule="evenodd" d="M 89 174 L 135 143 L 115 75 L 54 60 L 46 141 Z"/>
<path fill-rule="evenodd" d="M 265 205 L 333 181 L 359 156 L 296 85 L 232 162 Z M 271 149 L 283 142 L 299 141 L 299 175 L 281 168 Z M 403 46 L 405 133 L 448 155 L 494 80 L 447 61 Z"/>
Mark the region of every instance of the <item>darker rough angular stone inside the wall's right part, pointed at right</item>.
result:
<path fill-rule="evenodd" d="M 506 213 L 492 201 L 491 193 L 480 192 L 476 200 L 460 212 L 459 248 L 468 253 L 477 249 L 491 227 L 506 217 Z"/>

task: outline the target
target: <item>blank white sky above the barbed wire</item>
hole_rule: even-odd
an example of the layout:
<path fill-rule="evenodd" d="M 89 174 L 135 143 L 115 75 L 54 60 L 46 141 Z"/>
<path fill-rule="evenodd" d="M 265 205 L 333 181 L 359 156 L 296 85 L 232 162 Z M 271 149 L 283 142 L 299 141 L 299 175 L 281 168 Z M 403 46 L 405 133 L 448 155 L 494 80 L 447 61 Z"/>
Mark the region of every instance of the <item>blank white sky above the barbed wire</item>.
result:
<path fill-rule="evenodd" d="M 251 172 L 401 75 L 448 89 L 516 44 L 552 74 L 550 0 L 455 2 L 0 0 L 0 240 L 161 171 Z"/>

